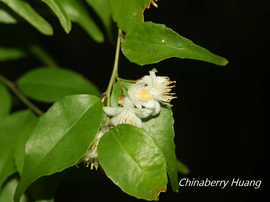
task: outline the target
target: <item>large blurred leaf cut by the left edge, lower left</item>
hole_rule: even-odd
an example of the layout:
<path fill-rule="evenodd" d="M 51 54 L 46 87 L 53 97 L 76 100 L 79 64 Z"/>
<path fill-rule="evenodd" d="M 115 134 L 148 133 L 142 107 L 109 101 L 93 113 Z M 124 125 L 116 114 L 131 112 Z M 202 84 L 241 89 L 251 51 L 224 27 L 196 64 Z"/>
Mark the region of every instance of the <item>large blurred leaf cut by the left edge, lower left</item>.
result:
<path fill-rule="evenodd" d="M 25 130 L 25 123 L 30 113 L 29 110 L 16 112 L 0 123 L 0 190 L 7 177 L 16 171 L 13 162 L 15 142 Z"/>

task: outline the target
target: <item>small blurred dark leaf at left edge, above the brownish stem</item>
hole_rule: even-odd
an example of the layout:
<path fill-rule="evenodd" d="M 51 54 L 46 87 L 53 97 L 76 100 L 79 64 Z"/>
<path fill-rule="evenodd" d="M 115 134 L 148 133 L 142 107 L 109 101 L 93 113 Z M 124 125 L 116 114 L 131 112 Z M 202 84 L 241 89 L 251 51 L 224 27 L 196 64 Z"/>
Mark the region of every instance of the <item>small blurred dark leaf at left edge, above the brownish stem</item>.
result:
<path fill-rule="evenodd" d="M 18 60 L 25 56 L 26 53 L 21 49 L 0 47 L 0 61 Z"/>

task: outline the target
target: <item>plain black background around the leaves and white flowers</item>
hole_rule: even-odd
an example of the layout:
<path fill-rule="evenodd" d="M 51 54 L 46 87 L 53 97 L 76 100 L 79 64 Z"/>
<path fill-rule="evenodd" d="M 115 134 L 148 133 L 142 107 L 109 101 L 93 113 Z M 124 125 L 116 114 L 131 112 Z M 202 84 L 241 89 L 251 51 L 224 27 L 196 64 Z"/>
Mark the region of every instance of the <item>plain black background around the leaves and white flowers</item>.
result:
<path fill-rule="evenodd" d="M 152 68 L 177 81 L 172 101 L 177 158 L 191 170 L 179 179 L 262 180 L 253 187 L 180 187 L 179 193 L 160 194 L 160 200 L 252 201 L 268 186 L 264 176 L 264 105 L 262 103 L 266 5 L 259 1 L 158 1 L 145 11 L 145 21 L 165 24 L 181 36 L 228 59 L 227 66 L 170 58 L 139 66 L 122 53 L 119 76 L 137 79 Z M 98 25 L 102 23 L 89 8 Z M 46 17 L 54 36 L 44 36 L 27 24 L 0 25 L 2 45 L 39 43 L 65 68 L 82 73 L 105 91 L 113 68 L 115 46 L 108 38 L 95 43 L 77 24 L 65 34 L 58 20 Z M 27 29 L 25 28 L 27 27 Z M 28 31 L 30 30 L 30 31 Z M 31 35 L 29 35 L 31 32 Z M 1 74 L 16 80 L 41 64 L 35 58 L 0 63 Z M 50 105 L 37 103 L 43 110 Z M 25 108 L 17 103 L 13 110 Z M 268 158 L 266 159 L 268 160 Z M 124 193 L 101 170 L 67 169 L 55 201 L 138 201 Z M 143 201 L 143 200 L 141 200 Z"/>

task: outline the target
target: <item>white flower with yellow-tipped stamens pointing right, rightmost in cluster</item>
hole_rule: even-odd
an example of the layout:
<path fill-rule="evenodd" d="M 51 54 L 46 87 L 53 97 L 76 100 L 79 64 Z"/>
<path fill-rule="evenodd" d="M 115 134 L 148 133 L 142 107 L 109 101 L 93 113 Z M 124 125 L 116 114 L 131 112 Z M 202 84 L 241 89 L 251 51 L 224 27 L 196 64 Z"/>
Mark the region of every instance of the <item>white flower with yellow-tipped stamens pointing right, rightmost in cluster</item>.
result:
<path fill-rule="evenodd" d="M 175 93 L 171 93 L 171 88 L 175 86 L 170 86 L 171 83 L 176 83 L 176 81 L 170 81 L 169 77 L 166 76 L 156 76 L 155 72 L 157 72 L 156 68 L 149 71 L 150 76 L 144 76 L 143 81 L 149 87 L 155 87 L 160 90 L 160 94 L 158 96 L 153 97 L 155 100 L 155 107 L 152 112 L 153 115 L 156 115 L 160 112 L 160 103 L 165 105 L 169 105 L 167 102 L 171 102 L 172 99 L 177 98 L 172 95 Z M 172 105 L 169 105 L 172 106 Z M 151 109 L 146 109 L 151 110 Z"/>

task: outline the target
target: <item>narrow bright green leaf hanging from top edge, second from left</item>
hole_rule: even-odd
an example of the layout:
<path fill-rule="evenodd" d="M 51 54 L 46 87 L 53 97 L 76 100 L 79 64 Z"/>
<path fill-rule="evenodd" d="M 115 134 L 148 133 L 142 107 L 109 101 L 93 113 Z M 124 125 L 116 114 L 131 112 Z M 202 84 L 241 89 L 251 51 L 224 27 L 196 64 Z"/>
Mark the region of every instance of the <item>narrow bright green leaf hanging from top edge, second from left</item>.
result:
<path fill-rule="evenodd" d="M 71 21 L 65 9 L 63 8 L 61 0 L 41 0 L 41 1 L 46 3 L 52 9 L 52 11 L 58 17 L 65 32 L 69 33 L 71 30 Z"/>

